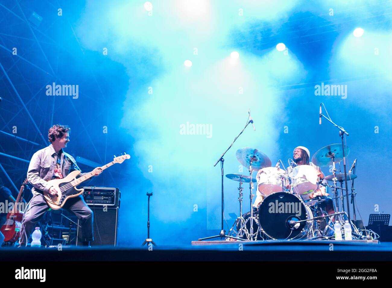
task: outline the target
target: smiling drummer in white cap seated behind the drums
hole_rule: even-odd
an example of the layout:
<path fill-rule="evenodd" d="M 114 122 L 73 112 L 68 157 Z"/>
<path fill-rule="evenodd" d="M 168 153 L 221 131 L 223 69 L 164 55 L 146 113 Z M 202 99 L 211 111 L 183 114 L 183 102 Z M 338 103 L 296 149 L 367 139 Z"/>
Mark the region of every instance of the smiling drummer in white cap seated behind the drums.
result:
<path fill-rule="evenodd" d="M 310 152 L 309 149 L 303 146 L 298 146 L 293 151 L 293 159 L 297 165 L 310 165 L 315 168 L 319 172 L 319 179 L 318 182 L 323 181 L 325 178 L 323 172 L 321 172 L 320 167 L 314 165 L 312 162 L 309 161 L 310 159 Z M 288 172 L 290 172 L 292 168 L 288 167 Z M 325 180 L 324 180 L 325 181 Z M 286 188 L 290 188 L 290 184 L 286 183 Z M 309 194 L 309 198 L 312 199 L 317 196 L 328 196 L 329 194 L 325 191 L 325 187 L 319 187 L 315 192 Z M 335 213 L 334 204 L 332 198 L 327 197 L 327 199 L 321 202 L 321 207 L 325 209 L 328 214 Z M 333 219 L 334 220 L 334 219 Z"/>

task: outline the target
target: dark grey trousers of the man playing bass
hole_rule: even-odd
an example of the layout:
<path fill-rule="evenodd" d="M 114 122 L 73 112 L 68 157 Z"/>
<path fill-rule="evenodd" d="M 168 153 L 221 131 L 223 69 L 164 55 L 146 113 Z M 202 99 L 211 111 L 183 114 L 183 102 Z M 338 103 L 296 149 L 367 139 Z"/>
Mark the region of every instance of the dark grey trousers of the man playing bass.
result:
<path fill-rule="evenodd" d="M 26 245 L 36 224 L 41 220 L 48 209 L 49 206 L 45 201 L 44 195 L 34 194 L 23 216 L 22 228 L 20 229 L 20 245 Z M 82 240 L 93 241 L 93 211 L 87 206 L 82 196 L 68 198 L 63 209 L 73 212 L 80 220 L 79 224 L 82 226 Z"/>

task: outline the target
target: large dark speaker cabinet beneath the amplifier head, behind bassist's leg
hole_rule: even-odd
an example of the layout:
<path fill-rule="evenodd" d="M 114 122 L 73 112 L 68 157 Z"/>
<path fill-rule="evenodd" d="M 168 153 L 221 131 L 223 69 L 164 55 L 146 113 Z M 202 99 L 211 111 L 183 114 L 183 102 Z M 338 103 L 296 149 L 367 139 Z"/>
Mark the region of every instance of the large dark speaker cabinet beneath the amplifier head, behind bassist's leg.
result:
<path fill-rule="evenodd" d="M 89 205 L 93 210 L 94 219 L 94 241 L 90 242 L 91 246 L 101 245 L 117 245 L 118 232 L 118 210 L 119 207 L 102 207 L 99 205 Z M 80 221 L 78 220 L 78 225 Z M 76 230 L 76 245 L 83 245 L 82 230 L 77 227 Z"/>

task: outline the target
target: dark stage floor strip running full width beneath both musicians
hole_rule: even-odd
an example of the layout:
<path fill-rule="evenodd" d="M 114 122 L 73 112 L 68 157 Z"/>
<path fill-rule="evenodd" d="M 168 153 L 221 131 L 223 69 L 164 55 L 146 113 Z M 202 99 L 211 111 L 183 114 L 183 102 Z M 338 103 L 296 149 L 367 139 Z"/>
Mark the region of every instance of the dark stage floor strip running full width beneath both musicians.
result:
<path fill-rule="evenodd" d="M 392 261 L 392 242 L 194 241 L 189 246 L 0 248 L 0 261 Z M 17 261 L 18 261 L 17 260 Z"/>

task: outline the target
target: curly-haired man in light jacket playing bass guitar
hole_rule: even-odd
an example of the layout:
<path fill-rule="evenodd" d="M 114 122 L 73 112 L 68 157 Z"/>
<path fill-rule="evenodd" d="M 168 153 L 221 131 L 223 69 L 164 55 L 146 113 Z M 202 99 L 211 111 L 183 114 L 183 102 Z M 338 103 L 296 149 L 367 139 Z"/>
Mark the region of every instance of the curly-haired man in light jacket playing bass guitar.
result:
<path fill-rule="evenodd" d="M 62 179 L 74 170 L 80 170 L 75 159 L 64 152 L 64 148 L 69 143 L 71 129 L 66 125 L 53 125 L 48 131 L 48 138 L 51 144 L 34 153 L 31 158 L 27 179 L 33 185 L 33 198 L 31 198 L 23 216 L 20 230 L 20 246 L 26 246 L 29 237 L 40 221 L 44 213 L 49 209 L 43 192 L 57 195 L 56 188 L 47 181 L 52 179 Z M 101 168 L 94 169 L 93 176 L 102 173 Z M 78 177 L 86 173 L 81 173 Z M 49 185 L 48 185 L 49 184 Z M 49 187 L 51 186 L 51 187 Z M 89 246 L 93 241 L 93 211 L 87 206 L 83 197 L 70 198 L 64 205 L 64 209 L 73 212 L 81 220 L 83 245 Z"/>

